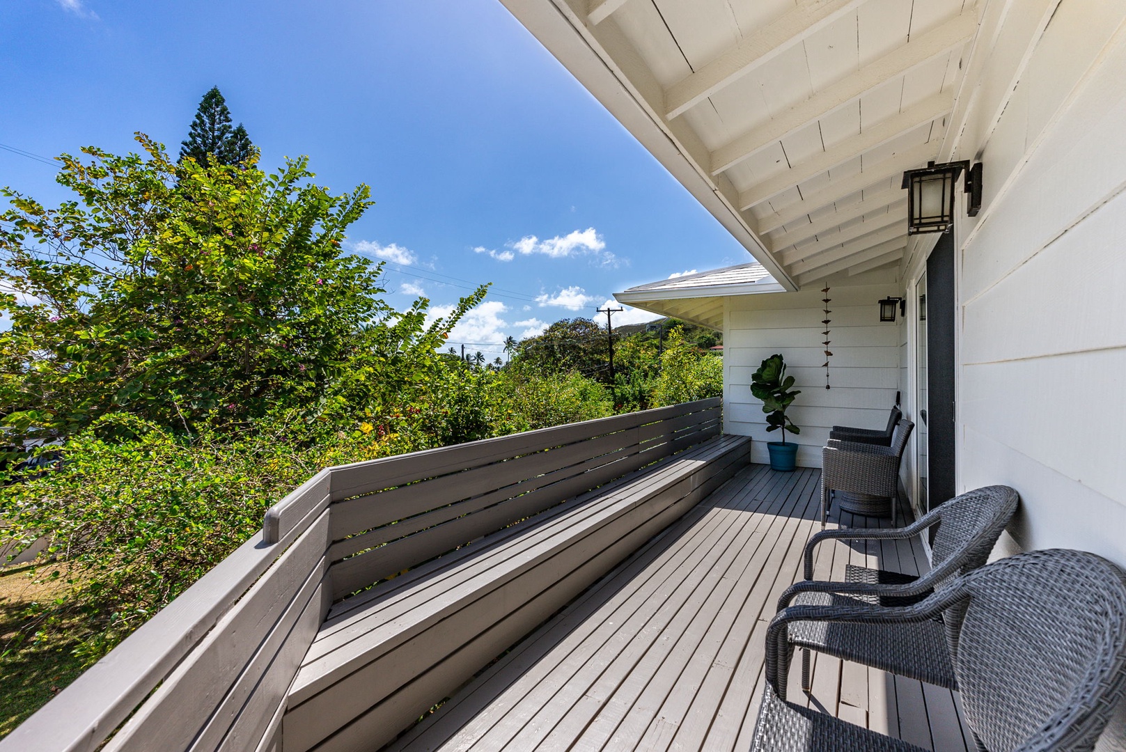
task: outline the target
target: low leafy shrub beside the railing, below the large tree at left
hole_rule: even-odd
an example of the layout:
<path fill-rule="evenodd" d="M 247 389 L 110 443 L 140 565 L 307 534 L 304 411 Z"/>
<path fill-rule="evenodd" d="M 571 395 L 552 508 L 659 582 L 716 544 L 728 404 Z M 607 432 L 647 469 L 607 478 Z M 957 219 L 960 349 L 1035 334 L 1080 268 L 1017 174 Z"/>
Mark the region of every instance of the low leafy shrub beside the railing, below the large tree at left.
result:
<path fill-rule="evenodd" d="M 114 430 L 100 430 L 110 423 Z M 241 545 L 274 501 L 322 466 L 404 448 L 385 431 L 333 432 L 314 446 L 298 437 L 307 429 L 292 412 L 254 430 L 206 428 L 194 437 L 118 414 L 69 439 L 60 471 L 3 490 L 7 539 L 26 544 L 51 531 L 57 561 L 39 575 L 69 585 L 14 642 L 77 641 L 90 663 Z"/>

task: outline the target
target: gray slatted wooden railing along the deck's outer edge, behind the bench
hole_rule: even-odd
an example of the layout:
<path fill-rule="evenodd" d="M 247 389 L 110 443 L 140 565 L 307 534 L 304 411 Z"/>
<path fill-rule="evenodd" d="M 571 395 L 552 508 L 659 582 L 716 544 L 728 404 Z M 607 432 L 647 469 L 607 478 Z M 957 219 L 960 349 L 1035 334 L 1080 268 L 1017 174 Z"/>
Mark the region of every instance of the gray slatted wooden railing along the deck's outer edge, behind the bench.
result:
<path fill-rule="evenodd" d="M 275 749 L 334 600 L 718 431 L 712 399 L 321 471 L 0 752 Z"/>

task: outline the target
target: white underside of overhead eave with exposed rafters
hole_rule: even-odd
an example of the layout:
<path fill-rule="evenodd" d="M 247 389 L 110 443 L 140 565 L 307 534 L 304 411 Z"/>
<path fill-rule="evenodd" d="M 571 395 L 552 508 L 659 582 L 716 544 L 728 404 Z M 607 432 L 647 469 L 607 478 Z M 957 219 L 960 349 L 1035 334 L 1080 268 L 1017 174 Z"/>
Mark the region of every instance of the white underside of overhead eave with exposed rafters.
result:
<path fill-rule="evenodd" d="M 960 127 L 978 21 L 976 0 L 501 1 L 786 289 L 899 263 L 900 177 Z"/>

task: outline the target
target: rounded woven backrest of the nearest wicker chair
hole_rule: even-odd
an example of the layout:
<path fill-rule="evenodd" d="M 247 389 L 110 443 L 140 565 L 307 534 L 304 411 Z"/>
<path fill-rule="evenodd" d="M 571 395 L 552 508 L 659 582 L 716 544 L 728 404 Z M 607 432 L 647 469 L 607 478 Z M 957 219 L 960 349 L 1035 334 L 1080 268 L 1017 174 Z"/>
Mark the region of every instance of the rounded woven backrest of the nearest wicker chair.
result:
<path fill-rule="evenodd" d="M 991 752 L 1091 750 L 1126 692 L 1126 573 L 1078 550 L 988 564 L 954 654 L 966 720 Z"/>

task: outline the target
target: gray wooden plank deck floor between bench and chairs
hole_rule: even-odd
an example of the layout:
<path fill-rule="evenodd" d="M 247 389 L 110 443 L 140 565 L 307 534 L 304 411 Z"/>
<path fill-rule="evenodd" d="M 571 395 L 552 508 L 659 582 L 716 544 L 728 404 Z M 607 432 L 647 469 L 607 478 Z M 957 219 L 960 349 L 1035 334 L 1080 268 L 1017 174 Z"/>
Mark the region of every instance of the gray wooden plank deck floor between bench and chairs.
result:
<path fill-rule="evenodd" d="M 819 475 L 740 472 L 387 749 L 749 749 L 766 626 L 820 529 Z M 835 510 L 831 523 L 891 526 Z M 823 544 L 816 576 L 842 579 L 849 562 L 927 566 L 918 541 Z M 790 687 L 935 752 L 974 750 L 949 690 L 826 656 L 810 695 L 797 671 Z"/>

